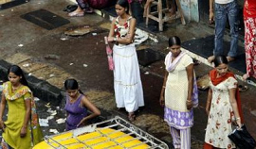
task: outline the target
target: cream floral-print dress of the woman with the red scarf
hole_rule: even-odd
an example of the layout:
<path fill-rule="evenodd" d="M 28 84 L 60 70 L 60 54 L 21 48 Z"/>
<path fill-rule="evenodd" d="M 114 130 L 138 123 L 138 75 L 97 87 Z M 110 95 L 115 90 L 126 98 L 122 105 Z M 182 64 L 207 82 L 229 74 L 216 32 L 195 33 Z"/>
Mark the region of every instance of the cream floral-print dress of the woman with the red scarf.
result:
<path fill-rule="evenodd" d="M 216 86 L 210 81 L 212 98 L 205 141 L 214 147 L 235 148 L 228 135 L 232 132 L 231 121 L 234 117 L 229 102 L 229 89 L 236 88 L 236 86 L 237 80 L 233 77 L 229 77 Z"/>

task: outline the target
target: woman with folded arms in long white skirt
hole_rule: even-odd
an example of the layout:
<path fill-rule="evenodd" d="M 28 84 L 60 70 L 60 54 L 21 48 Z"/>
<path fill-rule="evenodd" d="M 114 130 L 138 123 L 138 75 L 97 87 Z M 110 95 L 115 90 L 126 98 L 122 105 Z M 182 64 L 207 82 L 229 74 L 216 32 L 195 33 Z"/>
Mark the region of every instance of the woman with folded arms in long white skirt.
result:
<path fill-rule="evenodd" d="M 125 108 L 130 121 L 135 111 L 144 106 L 134 37 L 136 19 L 129 15 L 127 0 L 119 0 L 115 6 L 118 17 L 113 19 L 108 41 L 114 41 L 114 89 L 118 108 Z"/>

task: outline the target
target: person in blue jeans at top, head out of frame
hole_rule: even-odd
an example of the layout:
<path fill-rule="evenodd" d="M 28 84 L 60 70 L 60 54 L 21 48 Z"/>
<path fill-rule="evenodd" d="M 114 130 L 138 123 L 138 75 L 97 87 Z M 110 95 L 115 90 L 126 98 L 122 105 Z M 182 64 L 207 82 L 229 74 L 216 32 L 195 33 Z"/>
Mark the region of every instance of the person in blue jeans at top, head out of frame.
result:
<path fill-rule="evenodd" d="M 230 25 L 230 49 L 227 59 L 229 61 L 234 60 L 237 56 L 237 47 L 238 47 L 238 24 L 237 24 L 237 14 L 238 14 L 238 5 L 236 0 L 210 0 L 210 24 L 213 23 L 213 16 L 215 13 L 215 38 L 214 38 L 214 50 L 213 56 L 208 58 L 209 62 L 215 58 L 215 56 L 224 55 L 223 50 L 223 37 L 225 33 L 225 27 L 227 18 L 229 18 Z M 214 4 L 214 13 L 213 13 L 213 4 Z"/>

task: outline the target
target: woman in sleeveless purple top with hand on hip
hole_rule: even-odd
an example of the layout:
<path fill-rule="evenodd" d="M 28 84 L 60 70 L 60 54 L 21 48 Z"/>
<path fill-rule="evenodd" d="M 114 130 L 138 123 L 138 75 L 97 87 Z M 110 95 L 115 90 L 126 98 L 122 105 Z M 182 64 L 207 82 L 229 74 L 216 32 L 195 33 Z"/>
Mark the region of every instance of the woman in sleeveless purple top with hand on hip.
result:
<path fill-rule="evenodd" d="M 101 115 L 101 111 L 79 90 L 78 82 L 75 79 L 65 80 L 64 89 L 67 92 L 64 107 L 67 112 L 66 130 L 81 127 L 87 120 Z M 88 115 L 87 109 L 92 111 L 92 114 Z"/>

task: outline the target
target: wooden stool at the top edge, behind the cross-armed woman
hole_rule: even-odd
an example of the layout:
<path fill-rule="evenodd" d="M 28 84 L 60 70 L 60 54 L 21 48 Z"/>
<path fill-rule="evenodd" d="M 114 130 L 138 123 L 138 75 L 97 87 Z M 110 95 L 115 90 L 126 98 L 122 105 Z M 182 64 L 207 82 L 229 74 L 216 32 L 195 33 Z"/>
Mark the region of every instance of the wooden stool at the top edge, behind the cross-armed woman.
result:
<path fill-rule="evenodd" d="M 146 13 L 145 14 L 146 27 L 148 27 L 149 19 L 152 19 L 152 20 L 155 20 L 156 22 L 158 22 L 159 31 L 163 31 L 164 22 L 175 20 L 177 18 L 181 19 L 182 25 L 186 25 L 179 0 L 175 0 L 175 2 L 177 5 L 177 11 L 175 12 L 174 15 L 171 16 L 170 12 L 169 12 L 169 0 L 166 0 L 166 8 L 162 7 L 162 0 L 147 0 L 147 3 L 144 8 L 144 12 Z M 155 5 L 157 6 L 157 11 L 151 12 L 151 7 L 153 7 Z M 168 12 L 169 12 L 169 14 L 168 14 Z M 163 13 L 165 14 L 164 17 L 163 17 Z M 158 15 L 158 17 L 156 17 L 155 15 Z"/>

